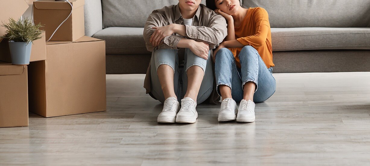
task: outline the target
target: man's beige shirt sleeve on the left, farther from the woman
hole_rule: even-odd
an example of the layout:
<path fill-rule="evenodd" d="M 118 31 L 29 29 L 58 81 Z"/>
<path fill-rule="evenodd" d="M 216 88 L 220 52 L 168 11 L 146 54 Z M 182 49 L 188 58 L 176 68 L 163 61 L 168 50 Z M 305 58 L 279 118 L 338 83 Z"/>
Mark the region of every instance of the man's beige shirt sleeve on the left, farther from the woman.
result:
<path fill-rule="evenodd" d="M 162 14 L 159 13 L 157 10 L 154 10 L 149 15 L 147 22 L 145 23 L 144 32 L 143 32 L 145 46 L 147 47 L 148 51 L 152 52 L 154 49 L 158 50 L 158 49 L 165 49 L 165 48 L 178 49 L 177 44 L 183 37 L 175 35 L 175 34 L 172 34 L 172 35 L 169 35 L 163 38 L 161 44 L 158 45 L 157 47 L 154 47 L 150 43 L 150 37 L 154 33 L 154 29 L 152 27 L 161 27 L 161 26 L 166 26 L 167 24 L 168 24 L 167 20 L 165 20 L 165 18 L 162 17 Z"/>

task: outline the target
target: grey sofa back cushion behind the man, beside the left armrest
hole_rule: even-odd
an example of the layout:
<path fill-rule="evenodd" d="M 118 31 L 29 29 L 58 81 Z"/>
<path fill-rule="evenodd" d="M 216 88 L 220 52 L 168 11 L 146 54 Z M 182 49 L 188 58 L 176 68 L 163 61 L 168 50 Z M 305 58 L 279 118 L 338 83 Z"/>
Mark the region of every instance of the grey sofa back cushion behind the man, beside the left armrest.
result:
<path fill-rule="evenodd" d="M 178 3 L 178 0 L 102 0 L 103 27 L 144 27 L 153 10 Z"/>

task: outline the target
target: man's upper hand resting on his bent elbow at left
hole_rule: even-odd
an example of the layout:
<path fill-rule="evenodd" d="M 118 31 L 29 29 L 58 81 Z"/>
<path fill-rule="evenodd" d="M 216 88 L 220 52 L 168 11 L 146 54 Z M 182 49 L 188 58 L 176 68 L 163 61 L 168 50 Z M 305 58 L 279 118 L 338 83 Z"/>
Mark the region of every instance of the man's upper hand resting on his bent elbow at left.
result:
<path fill-rule="evenodd" d="M 163 27 L 152 27 L 155 31 L 150 37 L 149 42 L 154 46 L 157 47 L 161 44 L 161 41 L 164 37 L 172 35 L 174 33 L 174 28 L 172 24 Z"/>

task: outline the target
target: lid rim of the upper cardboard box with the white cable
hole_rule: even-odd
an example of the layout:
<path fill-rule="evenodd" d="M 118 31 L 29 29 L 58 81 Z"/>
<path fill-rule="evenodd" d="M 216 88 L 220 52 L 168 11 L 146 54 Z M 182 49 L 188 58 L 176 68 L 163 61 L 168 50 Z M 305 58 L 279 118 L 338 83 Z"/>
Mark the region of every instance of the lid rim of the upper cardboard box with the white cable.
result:
<path fill-rule="evenodd" d="M 76 9 L 85 4 L 85 0 L 69 0 L 73 9 Z M 51 9 L 51 10 L 71 10 L 71 5 L 65 1 L 42 0 L 34 2 L 36 9 Z"/>

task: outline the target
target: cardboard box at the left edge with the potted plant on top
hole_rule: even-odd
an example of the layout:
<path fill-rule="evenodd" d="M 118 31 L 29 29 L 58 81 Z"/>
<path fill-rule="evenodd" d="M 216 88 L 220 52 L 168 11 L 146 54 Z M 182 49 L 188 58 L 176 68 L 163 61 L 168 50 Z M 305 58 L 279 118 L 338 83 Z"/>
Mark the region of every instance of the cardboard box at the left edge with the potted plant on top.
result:
<path fill-rule="evenodd" d="M 27 66 L 0 62 L 0 127 L 28 126 Z"/>

